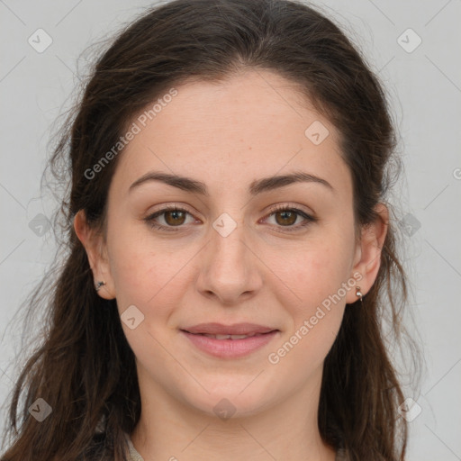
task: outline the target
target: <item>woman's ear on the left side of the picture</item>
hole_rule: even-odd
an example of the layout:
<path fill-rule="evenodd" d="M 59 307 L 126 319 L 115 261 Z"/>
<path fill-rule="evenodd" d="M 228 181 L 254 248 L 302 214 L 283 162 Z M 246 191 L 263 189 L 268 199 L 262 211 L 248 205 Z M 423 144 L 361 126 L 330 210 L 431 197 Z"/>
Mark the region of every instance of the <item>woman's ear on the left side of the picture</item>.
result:
<path fill-rule="evenodd" d="M 80 240 L 85 247 L 86 256 L 88 257 L 88 262 L 93 272 L 94 285 L 99 281 L 105 283 L 105 285 L 102 285 L 98 290 L 97 294 L 104 299 L 115 298 L 113 276 L 107 258 L 107 247 L 104 236 L 100 231 L 88 225 L 83 210 L 77 212 L 74 218 L 74 229 L 76 230 L 78 240 Z"/>

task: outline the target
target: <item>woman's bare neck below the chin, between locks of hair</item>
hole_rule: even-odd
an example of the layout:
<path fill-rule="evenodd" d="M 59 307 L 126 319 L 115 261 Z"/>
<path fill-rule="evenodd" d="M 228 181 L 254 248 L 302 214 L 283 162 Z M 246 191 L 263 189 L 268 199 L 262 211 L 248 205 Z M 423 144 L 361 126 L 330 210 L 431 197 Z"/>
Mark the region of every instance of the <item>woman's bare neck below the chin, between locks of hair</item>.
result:
<path fill-rule="evenodd" d="M 318 376 L 319 378 L 319 376 Z M 334 461 L 318 429 L 320 379 L 284 402 L 245 417 L 221 420 L 180 402 L 154 385 L 141 389 L 140 421 L 131 441 L 145 461 Z"/>

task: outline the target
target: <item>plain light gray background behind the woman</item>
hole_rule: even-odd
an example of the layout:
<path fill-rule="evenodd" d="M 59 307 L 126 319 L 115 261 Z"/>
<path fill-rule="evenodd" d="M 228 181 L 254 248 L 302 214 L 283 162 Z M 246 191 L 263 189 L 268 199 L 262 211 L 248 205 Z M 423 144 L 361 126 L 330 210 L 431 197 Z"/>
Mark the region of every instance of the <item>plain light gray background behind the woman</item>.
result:
<path fill-rule="evenodd" d="M 55 248 L 45 218 L 54 203 L 40 189 L 51 128 L 78 84 L 79 57 L 78 68 L 85 68 L 82 52 L 149 5 L 0 0 L 0 402 L 18 373 L 12 359 L 22 332 L 12 326 L 14 315 Z M 421 410 L 410 423 L 408 460 L 455 461 L 461 459 L 461 2 L 313 5 L 343 25 L 393 102 L 405 164 L 393 201 L 401 213 L 411 276 L 409 328 L 423 343 L 427 364 L 420 392 L 410 384 L 405 391 Z M 42 52 L 28 42 L 32 37 L 36 48 L 46 44 L 43 32 L 36 32 L 40 28 L 52 39 Z M 5 422 L 5 408 L 0 420 Z"/>

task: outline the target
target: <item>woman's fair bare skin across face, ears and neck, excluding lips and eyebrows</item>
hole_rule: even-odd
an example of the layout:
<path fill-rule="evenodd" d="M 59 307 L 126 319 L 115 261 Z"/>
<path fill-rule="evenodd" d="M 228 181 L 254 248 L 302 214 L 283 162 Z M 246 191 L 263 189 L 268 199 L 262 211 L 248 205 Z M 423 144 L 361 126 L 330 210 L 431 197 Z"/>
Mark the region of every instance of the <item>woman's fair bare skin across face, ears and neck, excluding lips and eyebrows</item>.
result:
<path fill-rule="evenodd" d="M 276 365 L 267 357 L 355 273 L 362 294 L 370 289 L 386 208 L 379 204 L 382 218 L 356 234 L 339 133 L 283 77 L 250 70 L 177 91 L 121 154 L 104 232 L 89 228 L 84 212 L 75 220 L 95 282 L 106 283 L 98 294 L 116 298 L 121 314 L 134 304 L 144 315 L 134 330 L 122 322 L 137 360 L 142 405 L 133 444 L 146 461 L 212 455 L 332 461 L 335 452 L 317 426 L 322 365 L 346 303 L 357 300 L 355 288 L 324 310 Z M 330 131 L 319 145 L 304 135 L 315 121 Z M 152 170 L 202 181 L 209 195 L 158 181 L 129 191 Z M 252 181 L 294 171 L 320 176 L 333 190 L 300 182 L 249 195 Z M 158 216 L 170 228 L 179 223 L 176 232 L 143 221 L 167 204 L 190 213 Z M 303 216 L 290 221 L 275 204 L 317 221 L 301 228 Z M 237 224 L 227 237 L 212 227 L 223 212 Z M 290 226 L 297 230 L 286 230 Z M 194 348 L 179 331 L 207 321 L 249 321 L 280 333 L 247 357 L 222 359 Z M 213 411 L 223 398 L 236 410 L 228 420 Z"/>

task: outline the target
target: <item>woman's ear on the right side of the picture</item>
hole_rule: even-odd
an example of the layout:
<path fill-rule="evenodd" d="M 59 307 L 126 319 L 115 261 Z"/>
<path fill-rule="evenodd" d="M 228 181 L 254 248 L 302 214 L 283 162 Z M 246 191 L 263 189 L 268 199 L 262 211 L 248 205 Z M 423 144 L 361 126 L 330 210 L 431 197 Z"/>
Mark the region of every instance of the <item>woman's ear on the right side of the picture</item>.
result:
<path fill-rule="evenodd" d="M 381 251 L 384 246 L 389 212 L 384 203 L 375 206 L 376 218 L 362 227 L 360 240 L 357 242 L 356 254 L 352 274 L 360 287 L 360 292 L 365 296 L 375 283 L 381 265 Z M 356 290 L 349 290 L 346 303 L 357 301 Z"/>

